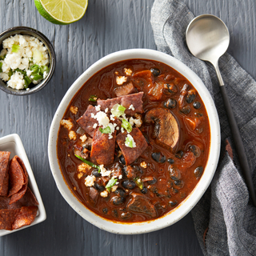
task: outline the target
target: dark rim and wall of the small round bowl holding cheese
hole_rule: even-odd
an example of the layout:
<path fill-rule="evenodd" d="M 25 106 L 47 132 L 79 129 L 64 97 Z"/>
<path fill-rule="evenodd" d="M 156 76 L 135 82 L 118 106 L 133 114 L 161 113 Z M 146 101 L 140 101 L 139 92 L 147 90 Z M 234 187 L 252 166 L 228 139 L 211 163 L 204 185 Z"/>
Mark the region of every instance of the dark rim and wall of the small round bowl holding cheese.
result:
<path fill-rule="evenodd" d="M 16 31 L 17 31 L 17 33 L 16 33 Z M 51 44 L 50 40 L 48 38 L 46 38 L 46 36 L 44 34 L 42 34 L 42 32 L 40 32 L 39 30 L 36 30 L 29 26 L 10 27 L 9 29 L 2 31 L 0 34 L 0 41 L 1 41 L 0 49 L 2 47 L 2 37 L 4 37 L 6 34 L 13 34 L 13 33 L 26 34 L 26 32 L 30 33 L 27 35 L 30 35 L 30 36 L 33 35 L 35 38 L 38 38 L 46 46 L 46 48 L 48 50 L 49 58 L 50 58 L 50 70 L 49 70 L 47 77 L 45 79 L 43 79 L 42 82 L 39 82 L 34 87 L 30 88 L 30 90 L 15 90 L 13 88 L 6 86 L 6 83 L 3 82 L 2 79 L 0 79 L 0 89 L 3 90 L 4 92 L 6 92 L 7 94 L 12 94 L 12 95 L 17 95 L 17 96 L 34 94 L 34 93 L 38 92 L 38 90 L 42 90 L 42 88 L 45 87 L 48 82 L 50 82 L 50 79 L 52 78 L 52 76 L 54 74 L 54 70 L 55 70 L 55 66 L 56 66 L 56 55 L 55 55 L 55 51 L 54 51 L 54 46 Z M 10 35 L 10 36 L 12 36 L 12 35 Z M 8 38 L 10 36 L 8 36 Z"/>

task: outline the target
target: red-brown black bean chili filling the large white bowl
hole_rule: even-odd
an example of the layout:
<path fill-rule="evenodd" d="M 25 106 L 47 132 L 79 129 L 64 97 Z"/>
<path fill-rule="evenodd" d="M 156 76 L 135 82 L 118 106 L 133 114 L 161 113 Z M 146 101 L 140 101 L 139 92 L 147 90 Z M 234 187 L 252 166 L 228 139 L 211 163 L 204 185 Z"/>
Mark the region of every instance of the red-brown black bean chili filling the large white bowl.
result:
<path fill-rule="evenodd" d="M 137 100 L 139 92 L 143 92 L 141 103 Z M 115 129 L 113 138 L 102 134 L 98 129 L 103 126 L 98 125 L 88 134 L 88 120 L 97 123 L 90 113 L 86 119 L 88 106 L 97 114 L 95 100 L 119 98 L 120 103 L 121 97 L 129 103 L 130 95 L 136 98 L 130 102 L 133 106 L 126 106 L 125 114 L 130 111 L 137 118 L 138 127 L 133 124 L 130 132 L 136 146 L 125 145 L 129 133 L 121 126 L 122 116 L 114 118 L 119 130 Z M 139 104 L 143 113 L 137 113 Z M 110 118 L 110 110 L 101 106 L 101 111 Z M 83 128 L 77 122 L 82 116 Z M 210 147 L 206 108 L 194 86 L 161 62 L 131 59 L 106 66 L 82 86 L 62 119 L 72 123 L 70 127 L 61 122 L 58 131 L 62 174 L 79 201 L 102 218 L 118 222 L 159 218 L 190 195 L 205 169 Z M 130 115 L 125 119 L 130 122 Z M 82 141 L 84 134 L 86 141 Z M 110 175 L 102 176 L 97 168 L 82 166 L 74 154 L 97 166 L 105 162 Z M 88 176 L 90 186 L 85 185 Z"/>

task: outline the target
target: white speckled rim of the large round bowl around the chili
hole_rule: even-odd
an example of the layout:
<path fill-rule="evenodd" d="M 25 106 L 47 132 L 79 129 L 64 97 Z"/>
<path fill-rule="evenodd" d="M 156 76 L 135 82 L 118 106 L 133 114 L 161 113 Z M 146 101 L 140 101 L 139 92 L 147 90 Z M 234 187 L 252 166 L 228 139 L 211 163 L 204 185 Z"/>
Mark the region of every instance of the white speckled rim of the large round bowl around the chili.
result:
<path fill-rule="evenodd" d="M 169 214 L 166 214 L 162 218 L 155 219 L 150 222 L 140 222 L 140 223 L 121 223 L 121 222 L 111 222 L 105 218 L 99 217 L 97 214 L 94 214 L 92 211 L 82 205 L 81 202 L 72 194 L 69 187 L 66 185 L 66 182 L 63 179 L 60 167 L 58 165 L 57 158 L 57 138 L 58 138 L 58 129 L 60 126 L 60 121 L 66 111 L 67 106 L 78 92 L 78 90 L 83 86 L 83 84 L 98 70 L 102 70 L 105 66 L 109 66 L 112 63 L 119 62 L 126 59 L 132 58 L 143 58 L 154 60 L 158 62 L 165 63 L 168 66 L 177 70 L 180 74 L 186 77 L 202 98 L 206 111 L 210 120 L 210 154 L 209 159 L 206 164 L 206 168 L 198 185 L 194 188 L 193 193 L 190 194 L 176 209 L 172 210 Z M 206 86 L 202 83 L 202 80 L 198 78 L 192 70 L 190 70 L 182 62 L 179 62 L 177 59 L 170 57 L 168 54 L 163 54 L 156 50 L 146 50 L 146 49 L 133 49 L 133 50 L 122 50 L 115 52 L 114 54 L 109 54 L 104 58 L 95 62 L 94 65 L 90 66 L 70 87 L 66 92 L 62 102 L 58 106 L 58 110 L 54 115 L 53 122 L 50 126 L 49 142 L 48 142 L 48 156 L 50 161 L 50 169 L 54 175 L 54 180 L 58 186 L 58 190 L 62 194 L 63 198 L 66 199 L 66 202 L 86 219 L 86 221 L 98 226 L 102 230 L 109 231 L 116 234 L 142 234 L 151 232 L 154 230 L 160 230 L 166 226 L 170 226 L 175 222 L 178 222 L 183 218 L 190 210 L 196 205 L 198 200 L 202 197 L 202 194 L 205 193 L 207 187 L 210 185 L 210 182 L 214 176 L 218 164 L 218 157 L 220 152 L 220 126 L 218 121 L 217 110 L 214 106 L 214 101 L 210 96 L 209 91 L 206 89 Z"/>

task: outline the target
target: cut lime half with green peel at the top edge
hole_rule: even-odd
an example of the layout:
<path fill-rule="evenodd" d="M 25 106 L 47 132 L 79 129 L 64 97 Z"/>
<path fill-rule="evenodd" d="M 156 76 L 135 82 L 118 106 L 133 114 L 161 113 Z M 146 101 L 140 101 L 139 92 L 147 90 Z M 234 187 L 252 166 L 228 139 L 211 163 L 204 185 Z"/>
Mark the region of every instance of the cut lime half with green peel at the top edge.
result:
<path fill-rule="evenodd" d="M 86 13 L 88 0 L 34 0 L 39 14 L 54 24 L 77 22 Z"/>

